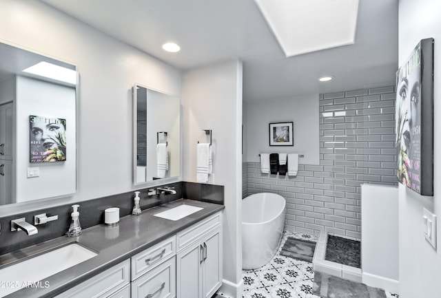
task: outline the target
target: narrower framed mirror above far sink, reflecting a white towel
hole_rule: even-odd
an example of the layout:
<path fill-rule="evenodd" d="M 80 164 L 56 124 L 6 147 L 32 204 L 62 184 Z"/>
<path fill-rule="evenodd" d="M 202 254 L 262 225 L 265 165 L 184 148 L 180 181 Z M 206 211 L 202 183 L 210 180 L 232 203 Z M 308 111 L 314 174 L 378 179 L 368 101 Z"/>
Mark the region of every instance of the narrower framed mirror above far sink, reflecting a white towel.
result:
<path fill-rule="evenodd" d="M 133 87 L 134 184 L 181 175 L 181 98 Z"/>

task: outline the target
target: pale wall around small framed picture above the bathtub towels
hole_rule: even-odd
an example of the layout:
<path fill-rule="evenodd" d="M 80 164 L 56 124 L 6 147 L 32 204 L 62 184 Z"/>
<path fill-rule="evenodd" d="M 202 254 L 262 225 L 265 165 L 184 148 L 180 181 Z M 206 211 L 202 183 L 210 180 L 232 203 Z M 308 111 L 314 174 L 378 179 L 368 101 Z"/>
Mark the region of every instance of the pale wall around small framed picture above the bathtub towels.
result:
<path fill-rule="evenodd" d="M 247 155 L 259 162 L 260 153 L 299 153 L 300 164 L 319 163 L 318 94 L 247 103 Z M 294 146 L 269 146 L 269 123 L 294 122 Z"/>

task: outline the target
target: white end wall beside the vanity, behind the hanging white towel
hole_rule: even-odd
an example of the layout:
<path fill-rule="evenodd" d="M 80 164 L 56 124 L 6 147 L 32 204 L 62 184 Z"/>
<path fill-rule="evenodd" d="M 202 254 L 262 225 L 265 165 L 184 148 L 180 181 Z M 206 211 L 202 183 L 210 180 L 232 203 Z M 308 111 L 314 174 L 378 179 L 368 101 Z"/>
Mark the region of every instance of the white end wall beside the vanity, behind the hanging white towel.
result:
<path fill-rule="evenodd" d="M 183 179 L 196 182 L 196 144 L 212 129 L 214 184 L 225 186 L 222 290 L 240 297 L 242 279 L 242 63 L 227 61 L 183 77 Z"/>

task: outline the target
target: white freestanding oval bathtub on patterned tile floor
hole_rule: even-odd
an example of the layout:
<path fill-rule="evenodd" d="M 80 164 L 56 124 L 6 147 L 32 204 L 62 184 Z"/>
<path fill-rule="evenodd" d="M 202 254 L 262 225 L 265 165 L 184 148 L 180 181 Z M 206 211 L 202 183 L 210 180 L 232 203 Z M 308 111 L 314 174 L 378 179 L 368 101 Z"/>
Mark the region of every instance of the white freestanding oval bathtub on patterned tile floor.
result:
<path fill-rule="evenodd" d="M 285 198 L 255 193 L 242 200 L 242 268 L 267 264 L 277 253 L 285 225 Z"/>

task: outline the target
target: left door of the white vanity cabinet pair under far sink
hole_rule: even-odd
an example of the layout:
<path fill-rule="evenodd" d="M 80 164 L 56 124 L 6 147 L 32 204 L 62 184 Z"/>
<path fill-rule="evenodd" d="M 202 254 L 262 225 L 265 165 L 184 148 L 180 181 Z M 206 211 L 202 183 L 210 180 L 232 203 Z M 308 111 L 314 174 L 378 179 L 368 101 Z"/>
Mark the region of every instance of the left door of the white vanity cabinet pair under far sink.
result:
<path fill-rule="evenodd" d="M 176 255 L 177 298 L 201 297 L 202 253 L 201 243 L 196 242 Z"/>

